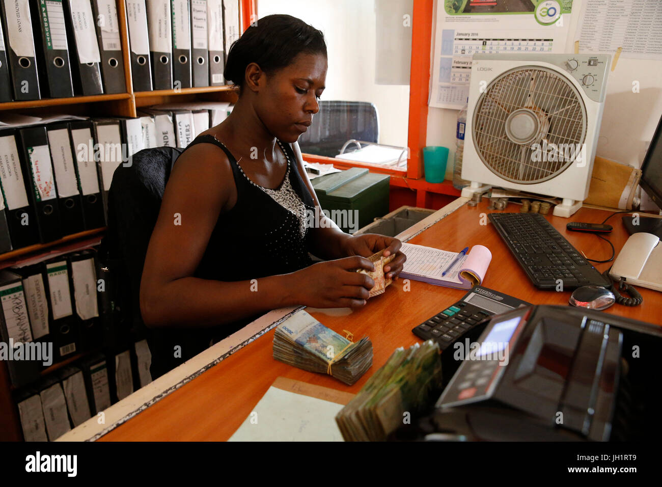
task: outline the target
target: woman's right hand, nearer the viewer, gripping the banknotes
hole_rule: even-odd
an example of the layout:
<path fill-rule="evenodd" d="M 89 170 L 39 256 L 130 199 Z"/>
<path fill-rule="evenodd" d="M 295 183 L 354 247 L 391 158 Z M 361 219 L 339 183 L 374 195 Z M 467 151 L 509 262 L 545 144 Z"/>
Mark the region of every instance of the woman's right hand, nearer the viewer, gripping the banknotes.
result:
<path fill-rule="evenodd" d="M 299 304 L 319 308 L 363 307 L 375 281 L 356 272 L 359 268 L 375 270 L 373 263 L 361 256 L 317 262 L 289 274 L 294 279 L 289 287 Z"/>

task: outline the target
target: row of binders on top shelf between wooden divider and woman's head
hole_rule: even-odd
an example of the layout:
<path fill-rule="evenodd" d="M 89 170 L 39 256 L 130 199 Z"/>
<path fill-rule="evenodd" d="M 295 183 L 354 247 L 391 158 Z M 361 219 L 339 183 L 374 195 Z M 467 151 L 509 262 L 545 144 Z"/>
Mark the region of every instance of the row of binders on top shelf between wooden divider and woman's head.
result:
<path fill-rule="evenodd" d="M 239 0 L 126 0 L 134 91 L 220 86 Z"/>

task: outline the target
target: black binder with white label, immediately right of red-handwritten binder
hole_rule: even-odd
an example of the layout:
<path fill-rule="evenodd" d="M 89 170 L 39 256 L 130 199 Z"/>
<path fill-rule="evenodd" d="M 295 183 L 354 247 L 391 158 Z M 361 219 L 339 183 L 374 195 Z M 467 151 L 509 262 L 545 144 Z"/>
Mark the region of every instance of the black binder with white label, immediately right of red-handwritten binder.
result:
<path fill-rule="evenodd" d="M 83 221 L 81 193 L 78 189 L 78 178 L 71 152 L 69 127 L 66 123 L 48 125 L 46 133 L 55 171 L 62 233 L 73 235 L 85 229 L 85 221 Z"/>

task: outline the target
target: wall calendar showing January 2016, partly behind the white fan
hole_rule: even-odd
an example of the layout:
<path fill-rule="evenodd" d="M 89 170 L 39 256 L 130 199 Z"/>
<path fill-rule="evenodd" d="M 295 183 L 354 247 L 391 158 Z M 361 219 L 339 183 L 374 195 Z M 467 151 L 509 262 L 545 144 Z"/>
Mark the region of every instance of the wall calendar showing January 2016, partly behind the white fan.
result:
<path fill-rule="evenodd" d="M 572 5 L 573 0 L 440 0 L 428 105 L 465 105 L 471 57 L 478 52 L 564 52 Z"/>

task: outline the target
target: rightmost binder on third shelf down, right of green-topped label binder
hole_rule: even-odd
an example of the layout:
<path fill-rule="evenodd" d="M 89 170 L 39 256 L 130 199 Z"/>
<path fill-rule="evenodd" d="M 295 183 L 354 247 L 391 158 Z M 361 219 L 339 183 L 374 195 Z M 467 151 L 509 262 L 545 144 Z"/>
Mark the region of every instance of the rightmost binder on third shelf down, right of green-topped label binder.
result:
<path fill-rule="evenodd" d="M 95 256 L 96 252 L 93 250 L 75 252 L 67 256 L 81 351 L 99 347 L 102 339 Z"/>

